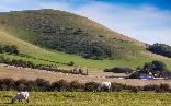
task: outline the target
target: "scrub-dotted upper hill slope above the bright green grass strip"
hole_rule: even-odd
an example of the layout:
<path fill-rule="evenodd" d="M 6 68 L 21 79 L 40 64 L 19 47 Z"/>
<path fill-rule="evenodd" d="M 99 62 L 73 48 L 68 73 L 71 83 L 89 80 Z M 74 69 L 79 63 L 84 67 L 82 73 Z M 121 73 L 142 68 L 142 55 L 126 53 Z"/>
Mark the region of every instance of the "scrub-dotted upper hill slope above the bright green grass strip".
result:
<path fill-rule="evenodd" d="M 39 47 L 84 58 L 128 58 L 145 47 L 142 43 L 110 31 L 87 17 L 64 11 L 0 13 L 0 26 Z"/>

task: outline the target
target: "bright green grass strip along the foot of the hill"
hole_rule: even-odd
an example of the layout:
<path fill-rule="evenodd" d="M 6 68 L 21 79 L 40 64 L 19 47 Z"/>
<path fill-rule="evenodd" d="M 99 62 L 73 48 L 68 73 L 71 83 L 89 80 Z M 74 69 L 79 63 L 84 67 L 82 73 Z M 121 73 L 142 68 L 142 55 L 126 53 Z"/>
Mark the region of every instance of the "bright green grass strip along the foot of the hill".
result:
<path fill-rule="evenodd" d="M 76 55 L 68 55 L 68 54 L 64 54 L 60 51 L 52 51 L 52 50 L 39 48 L 37 46 L 34 46 L 30 43 L 21 40 L 2 31 L 0 31 L 0 44 L 16 45 L 20 52 L 32 56 L 33 58 L 59 62 L 57 63 L 57 66 L 64 66 L 66 63 L 69 63 L 70 61 L 73 61 L 77 66 L 88 67 L 90 69 L 106 69 L 106 68 L 113 68 L 113 67 L 129 67 L 129 68 L 135 69 L 137 66 L 142 67 L 145 62 L 149 62 L 149 61 L 158 59 L 158 60 L 166 62 L 168 68 L 171 70 L 171 59 L 166 59 L 162 57 L 161 58 L 157 56 L 149 57 L 149 56 L 139 54 L 135 58 L 132 58 L 132 59 L 115 59 L 115 60 L 84 59 Z M 11 58 L 11 59 L 23 59 L 27 61 L 33 61 L 37 64 L 39 63 L 52 64 L 53 63 L 53 62 L 47 62 L 47 61 L 37 60 L 33 58 L 25 58 L 25 57 L 12 56 L 12 55 L 7 55 L 7 54 L 4 54 L 4 57 Z"/>

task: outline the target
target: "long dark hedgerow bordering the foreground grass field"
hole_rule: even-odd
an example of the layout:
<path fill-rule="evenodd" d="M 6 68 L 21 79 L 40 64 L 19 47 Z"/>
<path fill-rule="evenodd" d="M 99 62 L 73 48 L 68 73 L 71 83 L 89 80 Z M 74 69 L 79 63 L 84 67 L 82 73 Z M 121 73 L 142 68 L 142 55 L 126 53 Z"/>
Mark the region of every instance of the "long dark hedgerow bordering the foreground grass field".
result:
<path fill-rule="evenodd" d="M 44 79 L 36 80 L 13 80 L 13 79 L 0 79 L 0 91 L 35 91 L 35 92 L 98 92 L 100 83 L 87 82 L 80 83 L 79 81 L 67 82 L 66 80 L 59 80 L 53 83 Z M 112 83 L 111 92 L 140 92 L 140 91 L 152 91 L 152 92 L 171 92 L 169 84 L 149 84 L 145 86 L 133 86 L 122 83 Z"/>

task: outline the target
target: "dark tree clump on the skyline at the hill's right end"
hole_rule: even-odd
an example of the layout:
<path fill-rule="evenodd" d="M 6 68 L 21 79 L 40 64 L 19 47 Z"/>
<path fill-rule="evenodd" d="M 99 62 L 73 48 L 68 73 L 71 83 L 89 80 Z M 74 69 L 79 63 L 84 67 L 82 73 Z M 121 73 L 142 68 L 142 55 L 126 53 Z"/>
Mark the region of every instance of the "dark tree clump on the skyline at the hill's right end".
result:
<path fill-rule="evenodd" d="M 171 58 L 171 46 L 166 45 L 166 44 L 153 44 L 150 45 L 147 50 L 153 52 L 153 54 L 158 54 L 158 55 L 162 55 L 166 57 Z"/>

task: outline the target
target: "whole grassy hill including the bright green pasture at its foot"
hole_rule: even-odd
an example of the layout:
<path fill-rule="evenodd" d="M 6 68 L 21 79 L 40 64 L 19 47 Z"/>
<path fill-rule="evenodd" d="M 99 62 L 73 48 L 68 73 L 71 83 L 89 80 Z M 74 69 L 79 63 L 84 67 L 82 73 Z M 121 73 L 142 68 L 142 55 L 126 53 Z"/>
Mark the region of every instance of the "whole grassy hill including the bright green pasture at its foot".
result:
<path fill-rule="evenodd" d="M 32 56 L 3 54 L 5 57 L 35 63 L 66 66 L 73 61 L 77 66 L 105 69 L 136 68 L 158 59 L 171 69 L 171 59 L 146 51 L 144 43 L 64 11 L 0 13 L 0 44 L 16 45 L 20 52 Z"/>

